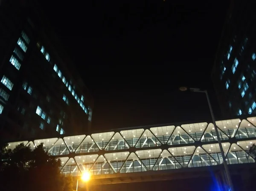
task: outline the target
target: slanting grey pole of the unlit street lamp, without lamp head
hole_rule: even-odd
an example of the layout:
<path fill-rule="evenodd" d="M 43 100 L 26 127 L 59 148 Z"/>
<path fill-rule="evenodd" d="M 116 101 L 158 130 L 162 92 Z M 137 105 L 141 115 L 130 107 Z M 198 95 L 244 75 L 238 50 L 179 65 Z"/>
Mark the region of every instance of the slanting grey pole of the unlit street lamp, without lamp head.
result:
<path fill-rule="evenodd" d="M 225 157 L 225 154 L 224 154 L 224 150 L 223 150 L 223 147 L 221 145 L 221 139 L 220 139 L 220 136 L 218 134 L 218 128 L 217 128 L 217 125 L 216 125 L 215 117 L 213 115 L 212 105 L 211 105 L 211 102 L 210 102 L 210 99 L 209 99 L 209 96 L 208 96 L 208 92 L 207 92 L 207 90 L 200 91 L 200 92 L 204 92 L 206 94 L 209 109 L 210 109 L 210 113 L 211 113 L 211 116 L 212 116 L 212 122 L 213 122 L 213 125 L 214 125 L 214 128 L 215 128 L 216 134 L 217 134 L 218 144 L 219 144 L 220 150 L 221 150 L 221 156 L 222 156 L 222 159 L 223 159 L 223 165 L 224 165 L 224 169 L 225 169 L 225 172 L 226 172 L 227 181 L 228 181 L 228 184 L 230 186 L 230 191 L 234 191 L 232 179 L 231 179 L 231 176 L 230 176 L 230 171 L 228 169 L 226 157 Z"/>

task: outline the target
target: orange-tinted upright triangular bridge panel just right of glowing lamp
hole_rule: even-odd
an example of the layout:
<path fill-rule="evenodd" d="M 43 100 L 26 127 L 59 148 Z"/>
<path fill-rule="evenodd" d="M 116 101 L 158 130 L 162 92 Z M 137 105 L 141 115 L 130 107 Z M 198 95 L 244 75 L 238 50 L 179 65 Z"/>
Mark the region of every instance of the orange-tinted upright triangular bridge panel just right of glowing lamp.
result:
<path fill-rule="evenodd" d="M 92 174 L 113 174 L 114 171 L 103 155 L 99 156 L 90 170 Z"/>

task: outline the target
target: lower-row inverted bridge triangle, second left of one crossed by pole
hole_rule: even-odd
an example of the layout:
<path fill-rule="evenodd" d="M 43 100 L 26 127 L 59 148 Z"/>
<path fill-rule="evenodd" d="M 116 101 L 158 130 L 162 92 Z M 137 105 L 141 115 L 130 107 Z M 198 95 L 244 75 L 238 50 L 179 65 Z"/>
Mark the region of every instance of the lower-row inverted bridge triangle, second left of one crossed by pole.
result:
<path fill-rule="evenodd" d="M 148 170 L 152 170 L 161 152 L 161 149 L 151 149 L 137 150 L 135 153 L 139 157 L 140 161 L 143 162 L 143 165 L 145 165 Z"/>

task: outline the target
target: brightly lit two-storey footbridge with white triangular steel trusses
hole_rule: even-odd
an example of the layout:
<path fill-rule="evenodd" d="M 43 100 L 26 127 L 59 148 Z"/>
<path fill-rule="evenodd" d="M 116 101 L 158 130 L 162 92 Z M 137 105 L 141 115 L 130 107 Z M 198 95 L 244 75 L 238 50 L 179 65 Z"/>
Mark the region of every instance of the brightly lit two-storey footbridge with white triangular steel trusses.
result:
<path fill-rule="evenodd" d="M 248 152 L 256 143 L 256 117 L 216 122 L 227 164 L 254 163 Z M 33 149 L 43 143 L 49 155 L 61 159 L 61 173 L 80 176 L 160 171 L 220 165 L 223 162 L 213 124 L 207 122 L 116 130 L 64 136 L 24 143 Z"/>

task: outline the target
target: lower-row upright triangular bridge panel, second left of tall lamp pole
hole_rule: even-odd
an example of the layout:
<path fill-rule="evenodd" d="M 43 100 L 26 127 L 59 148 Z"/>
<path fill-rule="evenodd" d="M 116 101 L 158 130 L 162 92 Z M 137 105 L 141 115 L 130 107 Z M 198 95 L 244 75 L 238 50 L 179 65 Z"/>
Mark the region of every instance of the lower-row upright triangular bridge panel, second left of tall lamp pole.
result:
<path fill-rule="evenodd" d="M 181 165 L 175 160 L 175 158 L 168 150 L 163 150 L 157 162 L 155 163 L 153 170 L 159 171 L 176 168 L 181 168 Z"/>

